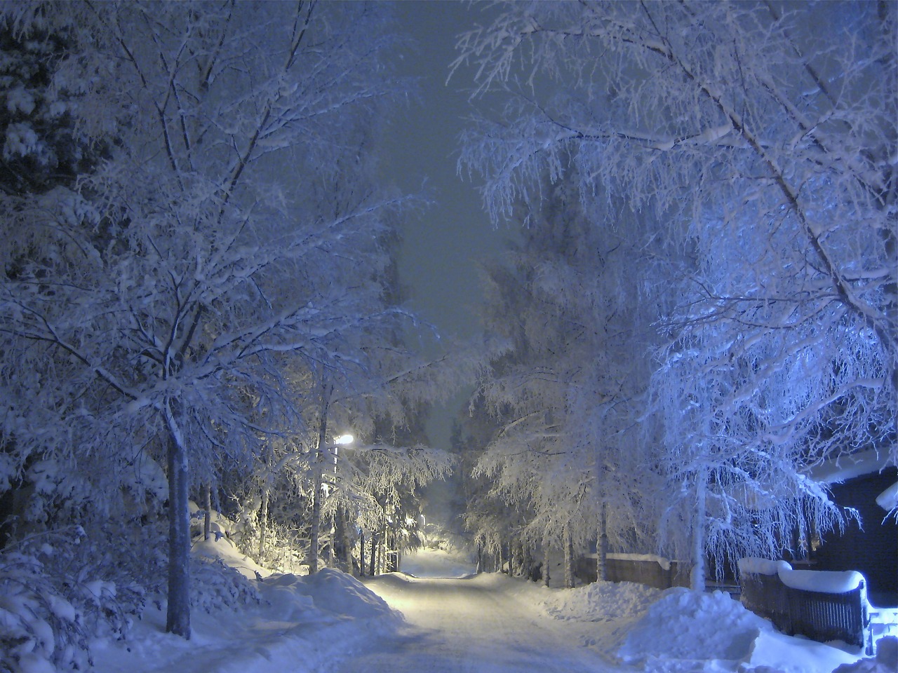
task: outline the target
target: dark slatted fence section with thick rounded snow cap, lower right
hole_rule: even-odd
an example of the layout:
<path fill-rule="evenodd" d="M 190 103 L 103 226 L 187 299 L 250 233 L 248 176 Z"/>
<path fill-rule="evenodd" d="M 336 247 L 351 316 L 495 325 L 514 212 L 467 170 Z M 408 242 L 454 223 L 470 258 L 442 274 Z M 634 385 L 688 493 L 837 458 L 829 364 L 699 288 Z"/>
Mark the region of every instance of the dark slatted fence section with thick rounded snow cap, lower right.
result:
<path fill-rule="evenodd" d="M 743 558 L 739 574 L 743 605 L 784 634 L 873 653 L 867 581 L 859 572 L 792 570 L 785 561 Z"/>

